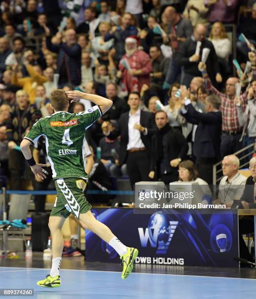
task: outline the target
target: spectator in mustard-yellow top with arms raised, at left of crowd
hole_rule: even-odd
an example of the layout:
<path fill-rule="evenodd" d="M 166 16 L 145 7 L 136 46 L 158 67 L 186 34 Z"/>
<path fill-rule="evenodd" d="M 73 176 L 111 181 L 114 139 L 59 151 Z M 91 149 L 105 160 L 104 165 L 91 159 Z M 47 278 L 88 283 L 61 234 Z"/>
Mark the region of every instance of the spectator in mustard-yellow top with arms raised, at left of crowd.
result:
<path fill-rule="evenodd" d="M 18 64 L 13 65 L 13 75 L 12 75 L 12 84 L 21 86 L 27 94 L 29 94 L 29 101 L 31 104 L 35 103 L 36 96 L 36 86 L 42 85 L 47 82 L 47 78 L 43 76 L 42 69 L 39 65 L 32 66 L 27 61 L 27 56 L 31 55 L 31 51 L 27 51 L 24 53 L 24 65 L 29 74 L 29 77 L 18 78 Z"/>

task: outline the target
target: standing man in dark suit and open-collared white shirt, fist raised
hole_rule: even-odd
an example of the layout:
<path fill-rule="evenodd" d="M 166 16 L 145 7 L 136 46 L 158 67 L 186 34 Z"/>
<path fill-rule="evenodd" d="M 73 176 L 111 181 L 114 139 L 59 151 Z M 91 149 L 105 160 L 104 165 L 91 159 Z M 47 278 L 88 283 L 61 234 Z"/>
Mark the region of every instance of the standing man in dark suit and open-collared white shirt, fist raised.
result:
<path fill-rule="evenodd" d="M 102 124 L 104 135 L 115 139 L 121 135 L 119 164 L 127 164 L 130 183 L 149 180 L 151 136 L 156 132 L 154 114 L 140 109 L 141 99 L 137 92 L 128 97 L 130 110 L 121 115 L 117 128 L 108 132 L 107 122 Z"/>

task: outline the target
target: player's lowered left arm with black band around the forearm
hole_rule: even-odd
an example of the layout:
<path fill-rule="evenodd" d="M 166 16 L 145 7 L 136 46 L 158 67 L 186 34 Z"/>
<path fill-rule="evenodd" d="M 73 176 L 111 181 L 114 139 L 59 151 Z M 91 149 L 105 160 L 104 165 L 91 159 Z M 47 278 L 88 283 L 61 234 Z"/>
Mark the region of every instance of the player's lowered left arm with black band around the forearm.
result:
<path fill-rule="evenodd" d="M 33 173 L 43 180 L 46 178 L 46 174 L 48 174 L 48 172 L 46 170 L 44 170 L 42 167 L 47 166 L 47 165 L 46 164 L 36 164 L 36 161 L 32 157 L 32 153 L 29 148 L 30 144 L 31 144 L 30 140 L 23 139 L 21 141 L 21 151 L 22 151 L 27 163 L 29 164 L 31 170 L 33 171 Z"/>

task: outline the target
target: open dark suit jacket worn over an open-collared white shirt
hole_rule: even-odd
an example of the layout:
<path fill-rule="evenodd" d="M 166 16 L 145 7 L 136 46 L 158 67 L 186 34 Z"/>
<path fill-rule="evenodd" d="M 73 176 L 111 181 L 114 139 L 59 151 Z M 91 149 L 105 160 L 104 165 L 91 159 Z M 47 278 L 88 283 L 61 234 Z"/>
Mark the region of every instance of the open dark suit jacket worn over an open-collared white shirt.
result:
<path fill-rule="evenodd" d="M 107 136 L 109 139 L 116 139 L 119 135 L 121 135 L 120 150 L 119 150 L 120 165 L 123 165 L 126 162 L 126 158 L 127 158 L 127 145 L 128 145 L 128 141 L 129 141 L 128 120 L 129 120 L 129 111 L 126 113 L 123 113 L 121 115 L 121 117 L 117 123 L 117 128 Z M 151 136 L 156 132 L 154 114 L 151 112 L 146 112 L 146 111 L 141 110 L 140 124 L 142 127 L 145 127 L 148 129 L 147 135 L 144 135 L 143 133 L 141 133 L 141 140 L 150 153 Z"/>

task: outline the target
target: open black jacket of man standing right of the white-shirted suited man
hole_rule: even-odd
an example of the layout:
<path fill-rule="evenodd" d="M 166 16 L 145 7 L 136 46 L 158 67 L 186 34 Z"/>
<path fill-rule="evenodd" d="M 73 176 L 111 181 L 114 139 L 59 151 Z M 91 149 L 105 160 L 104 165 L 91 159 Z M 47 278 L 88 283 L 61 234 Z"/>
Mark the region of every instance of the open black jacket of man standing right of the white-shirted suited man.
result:
<path fill-rule="evenodd" d="M 181 133 L 180 130 L 173 129 L 167 133 L 169 144 L 168 144 L 168 159 L 169 161 L 181 158 L 184 160 L 186 158 L 187 152 L 189 150 L 188 143 Z M 152 136 L 152 145 L 151 145 L 151 155 L 150 155 L 150 171 L 155 171 L 159 169 L 159 163 L 161 161 L 156 161 L 156 152 L 157 152 L 157 136 L 154 134 Z M 172 171 L 177 171 L 177 168 L 171 167 Z M 158 174 L 155 173 L 155 177 L 158 177 Z"/>

